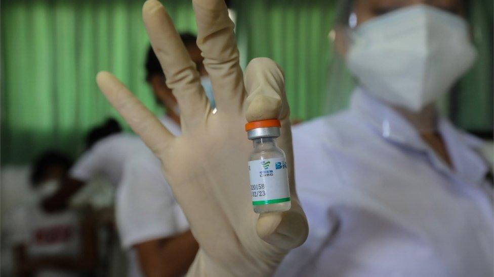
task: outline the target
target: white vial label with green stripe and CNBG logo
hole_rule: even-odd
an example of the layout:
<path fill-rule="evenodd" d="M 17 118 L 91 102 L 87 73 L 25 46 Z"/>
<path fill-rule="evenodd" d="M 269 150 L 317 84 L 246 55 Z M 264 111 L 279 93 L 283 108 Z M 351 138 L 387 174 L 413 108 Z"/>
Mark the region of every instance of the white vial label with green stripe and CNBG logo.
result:
<path fill-rule="evenodd" d="M 249 161 L 253 205 L 290 201 L 286 160 L 283 157 Z"/>

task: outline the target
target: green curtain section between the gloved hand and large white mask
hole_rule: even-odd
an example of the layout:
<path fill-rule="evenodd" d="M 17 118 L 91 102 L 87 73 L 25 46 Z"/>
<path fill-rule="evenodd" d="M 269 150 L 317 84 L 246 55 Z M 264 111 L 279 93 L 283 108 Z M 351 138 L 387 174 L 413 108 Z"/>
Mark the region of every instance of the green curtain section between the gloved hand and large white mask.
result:
<path fill-rule="evenodd" d="M 238 1 L 236 32 L 242 65 L 269 57 L 285 73 L 292 118 L 323 113 L 327 65 L 332 57 L 327 34 L 335 1 Z"/>

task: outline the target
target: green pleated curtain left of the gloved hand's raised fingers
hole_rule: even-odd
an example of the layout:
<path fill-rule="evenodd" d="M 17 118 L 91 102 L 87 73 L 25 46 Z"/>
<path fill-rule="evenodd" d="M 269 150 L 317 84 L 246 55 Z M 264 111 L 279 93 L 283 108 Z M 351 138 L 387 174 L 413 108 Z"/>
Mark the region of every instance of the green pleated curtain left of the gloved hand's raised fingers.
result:
<path fill-rule="evenodd" d="M 180 31 L 195 33 L 189 1 L 169 1 Z M 2 2 L 2 164 L 47 148 L 75 155 L 87 131 L 121 118 L 99 92 L 108 70 L 156 112 L 145 83 L 149 45 L 140 1 Z"/>

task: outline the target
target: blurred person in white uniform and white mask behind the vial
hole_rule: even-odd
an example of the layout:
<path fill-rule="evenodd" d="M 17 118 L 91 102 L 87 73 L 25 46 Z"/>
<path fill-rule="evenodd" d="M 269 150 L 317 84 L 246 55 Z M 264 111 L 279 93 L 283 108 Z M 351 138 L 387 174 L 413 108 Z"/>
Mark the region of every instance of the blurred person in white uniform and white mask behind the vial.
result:
<path fill-rule="evenodd" d="M 468 1 L 342 4 L 333 39 L 358 87 L 293 129 L 310 233 L 277 276 L 492 276 L 482 142 L 434 105 L 476 57 Z"/>

